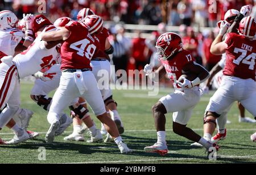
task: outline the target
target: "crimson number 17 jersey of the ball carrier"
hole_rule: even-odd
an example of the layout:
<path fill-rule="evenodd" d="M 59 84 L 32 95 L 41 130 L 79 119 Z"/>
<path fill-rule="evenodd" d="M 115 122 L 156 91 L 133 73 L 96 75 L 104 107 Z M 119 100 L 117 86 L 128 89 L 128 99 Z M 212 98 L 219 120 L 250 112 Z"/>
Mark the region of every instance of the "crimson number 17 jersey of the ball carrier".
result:
<path fill-rule="evenodd" d="M 188 50 L 181 50 L 180 52 L 176 53 L 173 58 L 170 60 L 163 60 L 160 59 L 162 65 L 166 69 L 168 78 L 174 83 L 174 88 L 180 88 L 178 84 L 176 83 L 177 80 L 180 78 L 181 75 L 184 73 L 182 72 L 182 69 L 184 65 L 194 62 L 195 58 L 191 55 L 191 52 Z"/>

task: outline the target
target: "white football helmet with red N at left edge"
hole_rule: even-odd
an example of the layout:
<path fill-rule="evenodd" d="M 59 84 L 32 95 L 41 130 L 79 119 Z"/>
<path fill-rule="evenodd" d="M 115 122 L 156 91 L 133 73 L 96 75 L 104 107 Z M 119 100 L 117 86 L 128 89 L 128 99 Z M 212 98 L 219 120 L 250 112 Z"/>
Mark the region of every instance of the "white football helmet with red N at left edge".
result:
<path fill-rule="evenodd" d="M 0 11 L 0 29 L 7 30 L 17 28 L 18 22 L 19 19 L 13 12 L 9 10 Z"/>

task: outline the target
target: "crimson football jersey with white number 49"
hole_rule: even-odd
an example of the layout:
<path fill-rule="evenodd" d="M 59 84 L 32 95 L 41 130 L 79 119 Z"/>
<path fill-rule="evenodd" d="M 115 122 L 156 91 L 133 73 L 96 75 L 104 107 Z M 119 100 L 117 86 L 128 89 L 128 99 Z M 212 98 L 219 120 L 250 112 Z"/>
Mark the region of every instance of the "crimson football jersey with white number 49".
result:
<path fill-rule="evenodd" d="M 71 33 L 61 45 L 61 70 L 92 69 L 90 59 L 98 52 L 100 43 L 92 37 L 88 29 L 79 22 L 69 22 L 65 25 Z"/>

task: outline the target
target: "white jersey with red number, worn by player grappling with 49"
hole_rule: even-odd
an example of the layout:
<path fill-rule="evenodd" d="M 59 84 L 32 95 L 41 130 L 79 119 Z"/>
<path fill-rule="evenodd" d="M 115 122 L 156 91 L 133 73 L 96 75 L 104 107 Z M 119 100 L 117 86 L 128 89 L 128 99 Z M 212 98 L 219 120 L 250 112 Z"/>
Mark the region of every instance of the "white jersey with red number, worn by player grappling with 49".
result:
<path fill-rule="evenodd" d="M 55 31 L 56 28 L 53 25 L 48 25 L 42 33 Z M 24 78 L 28 75 L 33 75 L 36 72 L 49 68 L 57 63 L 59 53 L 56 50 L 56 46 L 51 49 L 46 49 L 45 41 L 41 36 L 36 37 L 33 44 L 31 44 L 27 50 L 14 57 L 19 77 Z"/>

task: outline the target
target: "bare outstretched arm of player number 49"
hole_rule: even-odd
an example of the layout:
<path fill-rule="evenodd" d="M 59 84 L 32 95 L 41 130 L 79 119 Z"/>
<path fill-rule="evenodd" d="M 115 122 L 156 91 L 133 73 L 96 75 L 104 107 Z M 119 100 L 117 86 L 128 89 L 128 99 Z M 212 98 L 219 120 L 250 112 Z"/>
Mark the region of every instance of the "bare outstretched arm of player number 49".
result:
<path fill-rule="evenodd" d="M 61 28 L 58 31 L 52 31 L 52 32 L 47 32 L 42 34 L 42 40 L 43 41 L 65 41 L 68 39 L 70 35 L 70 31 L 66 28 Z"/>

